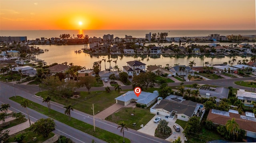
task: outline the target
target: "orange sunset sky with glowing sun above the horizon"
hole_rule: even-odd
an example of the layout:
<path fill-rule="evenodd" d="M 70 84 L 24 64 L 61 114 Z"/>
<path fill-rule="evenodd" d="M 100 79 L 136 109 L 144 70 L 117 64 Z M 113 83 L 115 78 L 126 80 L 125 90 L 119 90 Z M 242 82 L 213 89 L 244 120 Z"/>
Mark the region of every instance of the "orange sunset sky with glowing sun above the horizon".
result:
<path fill-rule="evenodd" d="M 0 0 L 0 30 L 256 29 L 256 0 Z"/>

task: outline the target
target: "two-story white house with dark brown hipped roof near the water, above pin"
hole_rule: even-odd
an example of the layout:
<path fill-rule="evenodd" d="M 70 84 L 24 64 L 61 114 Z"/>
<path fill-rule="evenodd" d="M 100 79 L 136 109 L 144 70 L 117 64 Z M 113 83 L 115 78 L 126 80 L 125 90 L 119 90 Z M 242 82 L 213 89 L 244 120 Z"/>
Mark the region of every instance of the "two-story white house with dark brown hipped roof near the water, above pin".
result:
<path fill-rule="evenodd" d="M 134 74 L 139 75 L 140 72 L 146 72 L 146 64 L 140 61 L 126 62 L 127 66 L 123 66 L 123 71 L 128 73 L 128 77 L 132 78 Z"/>

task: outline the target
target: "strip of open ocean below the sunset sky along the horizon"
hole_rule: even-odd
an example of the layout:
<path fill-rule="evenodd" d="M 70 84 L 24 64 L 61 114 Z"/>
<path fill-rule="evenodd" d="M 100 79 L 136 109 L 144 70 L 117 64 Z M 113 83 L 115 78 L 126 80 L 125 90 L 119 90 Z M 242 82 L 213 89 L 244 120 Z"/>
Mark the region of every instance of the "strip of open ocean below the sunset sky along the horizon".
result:
<path fill-rule="evenodd" d="M 61 34 L 70 34 L 76 37 L 77 34 L 88 35 L 89 37 L 103 37 L 106 34 L 113 34 L 114 37 L 124 38 L 129 35 L 135 38 L 145 38 L 147 33 L 167 32 L 168 37 L 203 37 L 209 34 L 226 35 L 256 35 L 256 30 L 0 30 L 0 36 L 26 36 L 28 40 L 45 37 L 59 37 Z"/>

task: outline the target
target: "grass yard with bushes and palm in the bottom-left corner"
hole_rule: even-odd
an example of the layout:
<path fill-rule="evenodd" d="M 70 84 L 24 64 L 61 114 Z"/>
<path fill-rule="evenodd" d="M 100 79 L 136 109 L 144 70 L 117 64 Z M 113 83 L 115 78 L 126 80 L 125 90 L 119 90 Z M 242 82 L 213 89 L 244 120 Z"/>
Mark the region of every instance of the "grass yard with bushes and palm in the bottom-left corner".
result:
<path fill-rule="evenodd" d="M 25 137 L 23 139 L 23 143 L 42 143 L 46 139 L 49 139 L 54 136 L 54 133 L 50 133 L 50 135 L 48 137 L 44 138 L 42 135 L 38 135 L 38 134 L 34 133 L 33 131 L 31 131 L 30 128 L 27 128 L 27 129 L 24 129 L 23 131 L 20 131 L 18 133 L 10 135 L 10 137 L 8 138 L 8 140 L 6 142 L 7 143 L 15 142 L 14 137 L 21 133 L 23 135 L 25 135 Z M 36 141 L 33 141 L 33 137 L 36 137 Z"/>

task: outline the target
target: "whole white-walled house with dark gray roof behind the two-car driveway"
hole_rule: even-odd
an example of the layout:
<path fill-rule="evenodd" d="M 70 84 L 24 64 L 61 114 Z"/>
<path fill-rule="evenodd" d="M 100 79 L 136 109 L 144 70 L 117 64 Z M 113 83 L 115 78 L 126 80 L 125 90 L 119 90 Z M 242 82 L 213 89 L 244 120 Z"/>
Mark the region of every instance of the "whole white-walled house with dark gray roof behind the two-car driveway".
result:
<path fill-rule="evenodd" d="M 169 118 L 177 118 L 182 121 L 188 121 L 192 116 L 202 116 L 204 113 L 204 105 L 196 102 L 185 100 L 176 102 L 174 100 L 160 100 L 154 108 L 156 114 L 169 116 Z"/>

